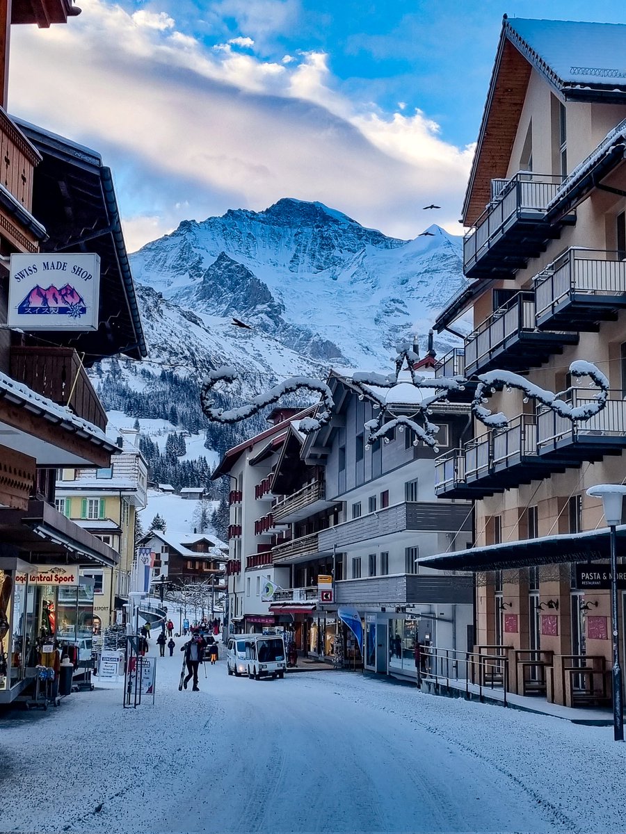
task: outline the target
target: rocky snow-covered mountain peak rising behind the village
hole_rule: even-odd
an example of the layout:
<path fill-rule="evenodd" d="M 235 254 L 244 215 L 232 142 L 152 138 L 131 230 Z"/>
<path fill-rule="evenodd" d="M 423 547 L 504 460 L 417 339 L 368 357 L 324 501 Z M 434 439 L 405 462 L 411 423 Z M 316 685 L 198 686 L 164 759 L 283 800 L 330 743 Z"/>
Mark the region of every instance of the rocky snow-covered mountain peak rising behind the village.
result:
<path fill-rule="evenodd" d="M 438 226 L 426 232 L 388 238 L 322 203 L 288 198 L 184 221 L 131 256 L 135 281 L 155 291 L 141 291 L 148 339 L 157 324 L 161 354 L 169 320 L 182 315 L 204 330 L 212 362 L 217 349 L 220 361 L 239 364 L 243 347 L 248 362 L 277 374 L 293 359 L 300 371 L 301 363 L 387 369 L 398 339 L 418 334 L 425 344 L 465 280 L 461 239 Z M 234 327 L 233 316 L 253 330 Z"/>

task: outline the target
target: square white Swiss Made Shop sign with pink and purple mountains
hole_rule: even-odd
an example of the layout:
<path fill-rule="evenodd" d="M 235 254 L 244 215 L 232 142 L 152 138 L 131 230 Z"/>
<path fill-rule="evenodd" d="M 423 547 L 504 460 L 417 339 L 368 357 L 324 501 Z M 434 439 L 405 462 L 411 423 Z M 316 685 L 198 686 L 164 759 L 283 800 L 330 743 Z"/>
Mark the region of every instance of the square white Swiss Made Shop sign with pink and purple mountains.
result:
<path fill-rule="evenodd" d="M 97 330 L 97 254 L 13 254 L 8 285 L 9 327 Z"/>

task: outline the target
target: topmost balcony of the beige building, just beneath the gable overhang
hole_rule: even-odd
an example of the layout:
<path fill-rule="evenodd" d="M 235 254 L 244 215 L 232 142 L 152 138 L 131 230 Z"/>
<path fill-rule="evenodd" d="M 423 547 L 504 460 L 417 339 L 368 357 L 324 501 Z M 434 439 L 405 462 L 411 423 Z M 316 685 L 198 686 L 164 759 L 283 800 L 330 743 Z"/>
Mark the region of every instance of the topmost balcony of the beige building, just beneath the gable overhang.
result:
<path fill-rule="evenodd" d="M 563 224 L 573 224 L 571 213 L 558 226 L 546 221 L 546 208 L 561 186 L 552 174 L 520 172 L 493 189 L 491 203 L 463 239 L 463 271 L 467 278 L 512 278 L 529 258 L 544 251 L 558 237 Z"/>

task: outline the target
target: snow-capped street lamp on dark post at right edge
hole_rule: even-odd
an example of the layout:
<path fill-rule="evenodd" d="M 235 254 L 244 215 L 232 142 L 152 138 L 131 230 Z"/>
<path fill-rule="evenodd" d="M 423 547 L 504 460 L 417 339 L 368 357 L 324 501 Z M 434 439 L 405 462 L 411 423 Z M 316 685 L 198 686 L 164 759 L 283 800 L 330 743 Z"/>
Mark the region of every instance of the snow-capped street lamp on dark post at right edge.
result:
<path fill-rule="evenodd" d="M 611 631 L 613 632 L 613 737 L 623 741 L 622 667 L 619 664 L 618 631 L 618 548 L 615 528 L 622 520 L 622 502 L 626 486 L 598 484 L 589 487 L 587 495 L 601 498 L 604 520 L 611 542 Z"/>

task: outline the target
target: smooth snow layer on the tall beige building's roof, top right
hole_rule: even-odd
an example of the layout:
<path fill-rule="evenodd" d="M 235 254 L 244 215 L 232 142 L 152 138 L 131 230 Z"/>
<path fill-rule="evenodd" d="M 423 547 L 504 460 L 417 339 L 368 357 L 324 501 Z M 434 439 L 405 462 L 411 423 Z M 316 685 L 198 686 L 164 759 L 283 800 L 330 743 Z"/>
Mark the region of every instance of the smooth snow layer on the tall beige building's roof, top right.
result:
<path fill-rule="evenodd" d="M 626 84 L 626 25 L 571 20 L 507 20 L 517 48 L 567 86 Z M 518 43 L 518 38 L 523 43 Z M 527 49 L 523 47 L 526 46 Z"/>

